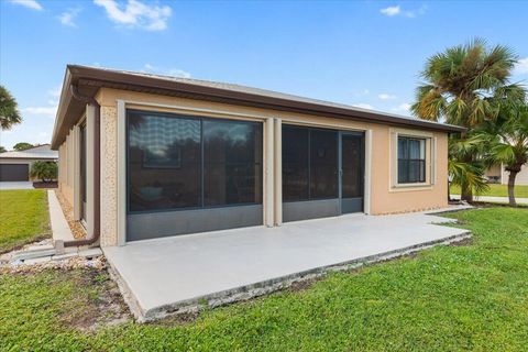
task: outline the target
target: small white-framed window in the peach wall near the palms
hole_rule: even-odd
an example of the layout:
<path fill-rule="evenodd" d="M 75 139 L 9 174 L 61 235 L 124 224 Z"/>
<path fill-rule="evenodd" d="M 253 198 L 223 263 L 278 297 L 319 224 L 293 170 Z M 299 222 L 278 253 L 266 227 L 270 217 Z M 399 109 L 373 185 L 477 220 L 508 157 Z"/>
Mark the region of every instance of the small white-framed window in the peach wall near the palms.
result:
<path fill-rule="evenodd" d="M 426 140 L 398 136 L 398 184 L 426 182 Z"/>

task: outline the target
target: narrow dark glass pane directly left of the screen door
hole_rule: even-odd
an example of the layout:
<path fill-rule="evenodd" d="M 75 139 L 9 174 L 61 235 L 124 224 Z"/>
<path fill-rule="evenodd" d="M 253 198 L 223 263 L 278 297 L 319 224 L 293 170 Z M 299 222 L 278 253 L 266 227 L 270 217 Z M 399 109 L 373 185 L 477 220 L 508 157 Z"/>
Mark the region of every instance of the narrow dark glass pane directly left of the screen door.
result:
<path fill-rule="evenodd" d="M 310 199 L 338 197 L 338 132 L 310 131 Z"/>

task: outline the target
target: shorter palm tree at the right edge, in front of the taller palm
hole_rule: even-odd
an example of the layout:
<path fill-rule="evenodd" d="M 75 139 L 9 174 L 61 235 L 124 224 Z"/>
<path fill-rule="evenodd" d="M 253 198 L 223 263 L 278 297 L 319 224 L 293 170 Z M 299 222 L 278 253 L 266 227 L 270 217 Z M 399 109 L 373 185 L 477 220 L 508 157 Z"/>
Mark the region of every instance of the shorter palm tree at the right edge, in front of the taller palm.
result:
<path fill-rule="evenodd" d="M 509 173 L 509 205 L 516 207 L 515 178 L 522 165 L 528 164 L 528 105 L 504 106 L 494 123 L 484 124 L 481 135 L 488 145 L 485 153 L 487 165 L 502 164 Z"/>

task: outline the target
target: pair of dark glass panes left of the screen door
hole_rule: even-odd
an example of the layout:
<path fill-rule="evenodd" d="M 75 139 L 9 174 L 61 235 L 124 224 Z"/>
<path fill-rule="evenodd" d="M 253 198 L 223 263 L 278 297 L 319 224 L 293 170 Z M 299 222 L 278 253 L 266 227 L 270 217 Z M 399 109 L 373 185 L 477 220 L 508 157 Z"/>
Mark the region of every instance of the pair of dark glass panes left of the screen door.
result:
<path fill-rule="evenodd" d="M 283 127 L 283 200 L 338 198 L 338 132 Z"/>

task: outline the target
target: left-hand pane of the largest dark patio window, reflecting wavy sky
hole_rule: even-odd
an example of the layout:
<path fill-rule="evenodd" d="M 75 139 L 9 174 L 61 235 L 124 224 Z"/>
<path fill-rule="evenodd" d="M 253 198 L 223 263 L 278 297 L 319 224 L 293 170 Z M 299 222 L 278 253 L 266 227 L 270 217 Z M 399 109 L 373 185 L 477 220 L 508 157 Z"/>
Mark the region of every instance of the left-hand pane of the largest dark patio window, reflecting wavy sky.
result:
<path fill-rule="evenodd" d="M 200 206 L 200 121 L 131 111 L 129 210 Z"/>

